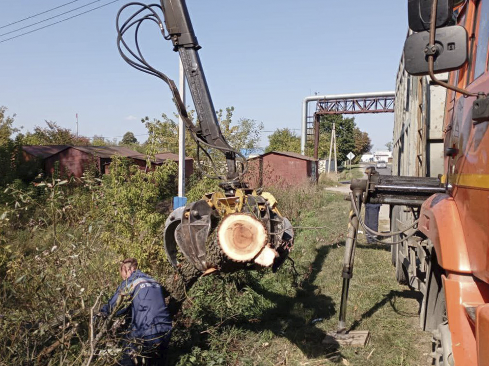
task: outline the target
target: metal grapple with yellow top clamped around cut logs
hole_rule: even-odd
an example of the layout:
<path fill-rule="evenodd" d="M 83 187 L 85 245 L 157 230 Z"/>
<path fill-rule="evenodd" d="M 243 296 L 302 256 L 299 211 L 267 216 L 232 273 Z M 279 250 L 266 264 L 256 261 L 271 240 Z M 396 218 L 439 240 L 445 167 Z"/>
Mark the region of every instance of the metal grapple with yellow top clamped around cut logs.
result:
<path fill-rule="evenodd" d="M 175 209 L 165 223 L 165 251 L 174 268 L 191 263 L 201 273 L 271 266 L 276 271 L 293 246 L 290 222 L 273 195 L 237 189 L 214 192 Z"/>

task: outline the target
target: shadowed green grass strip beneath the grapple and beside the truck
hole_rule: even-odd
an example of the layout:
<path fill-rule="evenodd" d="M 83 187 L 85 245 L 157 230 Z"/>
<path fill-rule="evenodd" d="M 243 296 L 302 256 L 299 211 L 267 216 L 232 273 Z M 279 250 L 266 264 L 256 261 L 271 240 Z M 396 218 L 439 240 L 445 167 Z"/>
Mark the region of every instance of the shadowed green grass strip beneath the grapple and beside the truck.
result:
<path fill-rule="evenodd" d="M 172 362 L 257 366 L 318 366 L 331 362 L 427 364 L 423 353 L 429 352 L 430 345 L 428 334 L 418 326 L 419 293 L 399 286 L 390 252 L 366 246 L 363 238 L 351 280 L 347 327 L 370 330 L 370 343 L 365 348 L 328 348 L 321 344 L 324 335 L 337 326 L 344 254 L 342 234 L 346 231 L 349 207 L 341 194 L 319 191 L 307 202 L 296 202 L 296 206 L 301 210 L 294 225 L 331 228 L 296 230 L 291 258 L 298 276 L 294 276 L 290 262 L 275 274 L 271 271 L 243 274 L 244 281 L 239 285 L 242 287 L 237 286 L 236 296 L 227 300 L 229 312 L 214 318 L 212 324 L 203 317 L 188 320 L 199 307 L 201 296 L 198 290 L 189 294 L 194 303 L 187 308 L 185 326 L 175 330 Z M 210 280 L 202 283 L 205 281 Z M 216 291 L 215 286 L 203 288 L 207 296 Z M 244 299 L 247 304 L 243 307 Z M 212 303 L 205 307 L 212 307 Z M 233 310 L 239 310 L 241 315 Z M 243 312 L 247 316 L 242 316 Z M 212 314 L 215 316 L 215 311 Z M 180 321 L 184 319 L 185 316 Z"/>

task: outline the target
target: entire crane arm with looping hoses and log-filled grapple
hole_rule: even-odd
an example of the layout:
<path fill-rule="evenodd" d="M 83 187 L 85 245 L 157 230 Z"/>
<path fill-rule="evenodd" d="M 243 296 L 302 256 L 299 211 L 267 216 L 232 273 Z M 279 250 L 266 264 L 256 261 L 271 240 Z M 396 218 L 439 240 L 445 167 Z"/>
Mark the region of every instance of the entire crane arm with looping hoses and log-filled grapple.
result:
<path fill-rule="evenodd" d="M 120 21 L 128 7 L 137 7 L 129 18 Z M 161 20 L 160 11 L 164 15 Z M 138 31 L 143 21 L 153 21 L 166 40 L 171 40 L 178 52 L 194 100 L 199 124 L 195 126 L 185 109 L 175 82 L 154 69 L 143 56 Z M 133 29 L 135 50 L 124 35 Z M 223 191 L 206 194 L 196 202 L 176 208 L 165 223 L 164 247 L 167 258 L 176 270 L 170 291 L 179 297 L 181 286 L 189 287 L 202 273 L 225 272 L 241 268 L 271 266 L 277 270 L 287 258 L 294 233 L 290 222 L 281 215 L 277 200 L 263 189 L 248 188 L 244 182 L 246 158 L 232 148 L 224 138 L 212 104 L 198 50 L 201 48 L 188 15 L 185 0 L 161 0 L 161 5 L 129 3 L 117 15 L 117 44 L 123 59 L 135 69 L 165 81 L 173 94 L 179 115 L 197 144 L 197 153 L 209 158 L 215 175 L 221 179 Z M 168 33 L 168 35 L 167 35 Z M 212 163 L 209 149 L 220 150 L 226 159 L 226 172 Z M 237 158 L 242 163 L 237 169 Z M 196 164 L 208 175 L 197 154 Z M 182 254 L 182 255 L 180 255 Z M 178 288 L 177 288 L 178 287 Z"/>

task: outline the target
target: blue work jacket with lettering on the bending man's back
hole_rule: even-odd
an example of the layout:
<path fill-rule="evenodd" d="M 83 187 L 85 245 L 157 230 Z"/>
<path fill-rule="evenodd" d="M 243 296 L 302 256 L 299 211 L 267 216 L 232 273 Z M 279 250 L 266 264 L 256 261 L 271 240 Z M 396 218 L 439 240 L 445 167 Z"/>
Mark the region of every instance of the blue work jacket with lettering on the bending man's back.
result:
<path fill-rule="evenodd" d="M 128 314 L 129 309 L 130 338 L 141 339 L 150 335 L 167 334 L 172 329 L 172 317 L 161 286 L 139 269 L 122 281 L 114 296 L 100 311 L 110 314 L 116 310 L 116 316 L 121 316 Z"/>

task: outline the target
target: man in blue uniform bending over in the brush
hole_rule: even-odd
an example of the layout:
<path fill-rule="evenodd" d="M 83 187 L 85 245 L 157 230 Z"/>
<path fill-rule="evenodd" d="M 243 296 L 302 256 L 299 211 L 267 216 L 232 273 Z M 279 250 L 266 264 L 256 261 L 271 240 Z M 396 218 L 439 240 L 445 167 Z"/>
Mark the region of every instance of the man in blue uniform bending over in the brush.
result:
<path fill-rule="evenodd" d="M 121 366 L 164 365 L 172 332 L 172 318 L 161 286 L 138 269 L 138 261 L 121 262 L 122 283 L 100 312 L 129 316 L 130 326 L 123 345 Z"/>

